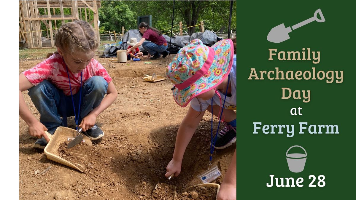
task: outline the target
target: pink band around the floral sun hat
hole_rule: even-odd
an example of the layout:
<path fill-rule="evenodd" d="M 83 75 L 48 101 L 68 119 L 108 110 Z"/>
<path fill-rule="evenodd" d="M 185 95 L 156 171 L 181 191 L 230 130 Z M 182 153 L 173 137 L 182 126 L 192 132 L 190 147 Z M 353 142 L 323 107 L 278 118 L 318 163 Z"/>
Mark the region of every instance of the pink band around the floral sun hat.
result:
<path fill-rule="evenodd" d="M 195 81 L 199 80 L 201 77 L 203 77 L 203 75 L 206 72 L 208 72 L 208 70 L 211 67 L 211 64 L 213 63 L 214 56 L 215 56 L 214 49 L 211 47 L 208 47 L 208 48 L 209 48 L 208 58 L 206 59 L 203 66 L 201 66 L 200 70 L 198 70 L 192 77 L 185 80 L 183 83 L 174 85 L 174 86 L 176 86 L 176 88 L 178 88 L 179 90 L 183 90 L 184 88 L 187 88 L 190 85 L 192 85 L 193 83 L 195 83 Z"/>

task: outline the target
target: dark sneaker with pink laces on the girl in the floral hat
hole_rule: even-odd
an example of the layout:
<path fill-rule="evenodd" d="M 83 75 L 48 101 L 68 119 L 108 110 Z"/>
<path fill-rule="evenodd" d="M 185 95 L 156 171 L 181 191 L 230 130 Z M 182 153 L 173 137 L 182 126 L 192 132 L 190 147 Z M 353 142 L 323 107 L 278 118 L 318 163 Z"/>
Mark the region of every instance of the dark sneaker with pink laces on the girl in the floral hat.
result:
<path fill-rule="evenodd" d="M 216 137 L 215 148 L 224 149 L 236 142 L 236 127 L 225 123 L 225 128 L 221 130 Z M 215 138 L 214 138 L 215 139 Z"/>

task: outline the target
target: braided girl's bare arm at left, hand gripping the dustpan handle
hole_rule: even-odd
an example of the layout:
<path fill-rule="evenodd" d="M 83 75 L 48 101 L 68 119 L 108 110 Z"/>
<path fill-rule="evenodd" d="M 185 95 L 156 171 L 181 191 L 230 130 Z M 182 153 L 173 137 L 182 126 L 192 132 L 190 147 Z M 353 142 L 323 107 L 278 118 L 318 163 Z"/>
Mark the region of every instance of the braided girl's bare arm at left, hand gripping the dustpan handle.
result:
<path fill-rule="evenodd" d="M 38 138 L 43 136 L 47 142 L 49 142 L 49 138 L 45 133 L 47 128 L 32 115 L 22 95 L 23 91 L 30 89 L 33 86 L 34 85 L 25 77 L 25 75 L 21 73 L 19 77 L 19 114 L 23 121 L 27 123 L 30 135 Z"/>

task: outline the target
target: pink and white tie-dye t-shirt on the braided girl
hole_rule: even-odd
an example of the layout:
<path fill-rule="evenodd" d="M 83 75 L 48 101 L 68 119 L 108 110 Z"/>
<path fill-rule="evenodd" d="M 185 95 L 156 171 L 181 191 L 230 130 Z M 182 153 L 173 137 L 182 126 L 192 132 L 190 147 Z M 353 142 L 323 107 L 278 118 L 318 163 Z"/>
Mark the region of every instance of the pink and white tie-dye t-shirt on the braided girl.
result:
<path fill-rule="evenodd" d="M 68 72 L 72 93 L 75 94 L 80 88 L 80 73 L 74 74 L 70 70 L 68 70 Z M 65 95 L 70 95 L 66 65 L 63 62 L 62 56 L 59 54 L 53 54 L 35 67 L 22 73 L 33 85 L 38 85 L 43 80 L 49 80 L 58 89 L 63 90 Z M 83 70 L 82 85 L 93 76 L 101 76 L 108 83 L 111 81 L 111 77 L 106 69 L 95 59 L 91 59 L 87 68 Z"/>

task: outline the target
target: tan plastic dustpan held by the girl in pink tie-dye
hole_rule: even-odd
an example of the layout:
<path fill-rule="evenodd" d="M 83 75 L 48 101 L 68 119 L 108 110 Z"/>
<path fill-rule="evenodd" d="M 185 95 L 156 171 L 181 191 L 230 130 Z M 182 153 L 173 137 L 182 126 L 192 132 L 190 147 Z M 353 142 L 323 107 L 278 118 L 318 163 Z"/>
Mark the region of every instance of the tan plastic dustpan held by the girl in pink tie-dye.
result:
<path fill-rule="evenodd" d="M 72 128 L 59 126 L 53 135 L 49 134 L 47 131 L 45 131 L 45 133 L 49 138 L 49 142 L 44 150 L 45 154 L 47 155 L 47 158 L 57 163 L 61 163 L 67 165 L 68 167 L 77 169 L 80 172 L 83 172 L 83 169 L 85 169 L 85 165 L 81 163 L 69 162 L 68 160 L 60 157 L 58 153 L 59 144 L 68 141 L 68 138 L 75 138 L 76 131 Z M 91 140 L 87 136 L 83 135 L 83 140 L 85 141 L 85 143 L 91 146 L 92 144 Z M 71 150 L 71 152 L 78 157 L 83 157 L 83 158 L 87 157 L 87 155 L 82 154 L 81 152 L 75 150 Z"/>

